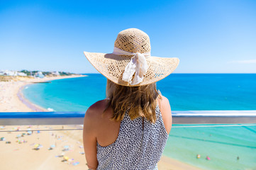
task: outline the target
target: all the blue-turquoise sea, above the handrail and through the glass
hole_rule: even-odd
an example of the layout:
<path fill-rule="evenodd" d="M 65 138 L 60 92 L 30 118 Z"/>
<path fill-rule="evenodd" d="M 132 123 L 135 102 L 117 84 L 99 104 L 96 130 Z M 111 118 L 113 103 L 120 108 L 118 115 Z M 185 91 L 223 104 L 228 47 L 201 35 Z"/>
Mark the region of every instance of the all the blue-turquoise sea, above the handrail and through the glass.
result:
<path fill-rule="evenodd" d="M 105 89 L 105 77 L 87 74 L 31 84 L 23 94 L 43 108 L 85 112 L 105 98 Z M 157 89 L 169 98 L 172 111 L 256 110 L 256 74 L 171 74 L 157 82 Z M 202 169 L 256 169 L 255 125 L 188 126 L 173 125 L 164 152 L 167 157 Z"/>

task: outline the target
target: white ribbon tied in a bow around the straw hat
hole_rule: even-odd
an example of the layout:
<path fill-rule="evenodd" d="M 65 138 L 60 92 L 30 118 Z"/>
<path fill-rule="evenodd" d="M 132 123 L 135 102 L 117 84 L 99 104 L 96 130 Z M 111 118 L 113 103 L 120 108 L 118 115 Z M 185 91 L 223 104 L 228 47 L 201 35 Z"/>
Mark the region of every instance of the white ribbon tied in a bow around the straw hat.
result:
<path fill-rule="evenodd" d="M 113 47 L 114 55 L 133 55 L 130 62 L 127 64 L 126 69 L 123 72 L 123 81 L 127 81 L 130 85 L 140 84 L 143 81 L 143 77 L 148 71 L 148 64 L 146 58 L 150 57 L 150 52 L 127 52 L 117 47 Z M 133 74 L 135 73 L 134 77 Z"/>

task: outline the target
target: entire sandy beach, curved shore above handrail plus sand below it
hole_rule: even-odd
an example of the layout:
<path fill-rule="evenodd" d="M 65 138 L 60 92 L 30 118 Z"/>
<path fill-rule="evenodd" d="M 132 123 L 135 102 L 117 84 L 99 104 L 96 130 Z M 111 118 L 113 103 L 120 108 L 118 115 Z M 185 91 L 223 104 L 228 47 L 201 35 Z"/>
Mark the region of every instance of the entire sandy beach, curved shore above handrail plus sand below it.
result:
<path fill-rule="evenodd" d="M 80 76 L 0 81 L 0 112 L 48 111 L 23 98 L 23 86 L 74 77 Z M 87 169 L 82 130 L 67 130 L 71 128 L 76 129 L 72 125 L 0 125 L 0 160 L 4 162 L 0 169 Z M 199 169 L 165 156 L 158 167 L 162 170 Z"/>

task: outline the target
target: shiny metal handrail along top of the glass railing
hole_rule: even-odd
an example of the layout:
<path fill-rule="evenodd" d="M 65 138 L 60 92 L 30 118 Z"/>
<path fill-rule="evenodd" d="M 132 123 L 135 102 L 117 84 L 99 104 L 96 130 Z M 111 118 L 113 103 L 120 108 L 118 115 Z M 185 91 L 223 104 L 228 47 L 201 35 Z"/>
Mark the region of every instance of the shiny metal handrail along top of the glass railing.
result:
<path fill-rule="evenodd" d="M 5 112 L 0 125 L 82 125 L 85 112 Z M 173 124 L 252 124 L 256 111 L 172 111 Z"/>

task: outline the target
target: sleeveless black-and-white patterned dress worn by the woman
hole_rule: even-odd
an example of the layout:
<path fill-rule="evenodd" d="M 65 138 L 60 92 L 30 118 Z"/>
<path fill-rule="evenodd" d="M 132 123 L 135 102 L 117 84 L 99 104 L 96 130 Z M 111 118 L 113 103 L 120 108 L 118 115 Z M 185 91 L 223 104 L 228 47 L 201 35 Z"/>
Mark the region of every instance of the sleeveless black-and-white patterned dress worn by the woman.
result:
<path fill-rule="evenodd" d="M 156 170 L 169 135 L 158 105 L 155 113 L 157 120 L 150 123 L 141 117 L 130 120 L 126 111 L 116 141 L 106 147 L 97 142 L 97 169 Z"/>

